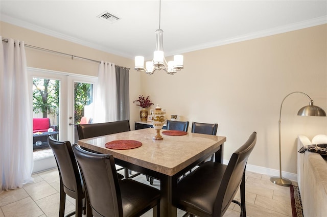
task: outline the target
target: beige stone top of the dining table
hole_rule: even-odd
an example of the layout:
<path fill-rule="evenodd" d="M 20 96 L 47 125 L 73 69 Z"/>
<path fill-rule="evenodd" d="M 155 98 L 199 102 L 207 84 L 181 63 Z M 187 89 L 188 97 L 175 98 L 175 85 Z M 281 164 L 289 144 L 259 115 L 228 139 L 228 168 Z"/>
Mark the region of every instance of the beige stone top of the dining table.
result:
<path fill-rule="evenodd" d="M 165 130 L 161 130 L 160 133 Z M 79 140 L 82 147 L 112 154 L 115 158 L 130 162 L 162 174 L 173 176 L 199 158 L 213 153 L 226 141 L 226 137 L 188 132 L 186 135 L 164 135 L 163 140 L 152 140 L 155 129 L 146 128 Z M 136 140 L 141 147 L 118 150 L 105 148 L 114 140 Z"/>

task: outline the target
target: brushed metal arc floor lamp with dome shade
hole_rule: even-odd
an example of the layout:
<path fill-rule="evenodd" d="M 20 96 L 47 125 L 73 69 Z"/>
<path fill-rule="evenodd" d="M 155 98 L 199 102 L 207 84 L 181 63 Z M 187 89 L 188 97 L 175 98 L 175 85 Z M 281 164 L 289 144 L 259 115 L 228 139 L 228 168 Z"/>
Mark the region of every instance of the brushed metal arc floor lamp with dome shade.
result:
<path fill-rule="evenodd" d="M 281 152 L 281 116 L 282 116 L 282 106 L 283 106 L 284 100 L 289 95 L 292 95 L 294 93 L 299 93 L 299 94 L 306 95 L 310 99 L 309 105 L 304 106 L 304 107 L 301 107 L 300 110 L 297 112 L 297 115 L 299 115 L 299 116 L 326 116 L 325 111 L 323 111 L 323 109 L 321 107 L 316 106 L 316 105 L 313 105 L 313 100 L 306 93 L 295 91 L 295 92 L 292 92 L 292 93 L 288 94 L 283 99 L 282 104 L 281 104 L 281 111 L 279 112 L 279 121 L 278 121 L 278 135 L 279 135 L 279 176 L 273 176 L 273 177 L 270 178 L 270 181 L 272 181 L 275 184 L 282 185 L 282 186 L 290 186 L 292 184 L 292 181 L 291 180 L 282 177 L 282 152 Z"/>

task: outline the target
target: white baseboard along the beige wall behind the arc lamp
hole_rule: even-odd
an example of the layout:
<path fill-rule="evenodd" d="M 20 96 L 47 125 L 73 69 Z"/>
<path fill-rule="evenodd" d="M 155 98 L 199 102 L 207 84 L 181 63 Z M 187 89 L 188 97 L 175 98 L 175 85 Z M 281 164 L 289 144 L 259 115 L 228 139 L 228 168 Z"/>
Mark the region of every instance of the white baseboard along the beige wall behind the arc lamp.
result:
<path fill-rule="evenodd" d="M 224 159 L 224 164 L 228 164 L 229 160 Z M 270 169 L 266 167 L 260 167 L 260 166 L 255 166 L 255 165 L 246 165 L 246 170 L 254 173 L 260 173 L 268 176 L 279 176 L 279 170 L 275 169 Z M 297 182 L 297 174 L 295 173 L 289 173 L 282 171 L 282 176 L 284 178 L 290 179 L 291 181 L 296 181 Z"/>

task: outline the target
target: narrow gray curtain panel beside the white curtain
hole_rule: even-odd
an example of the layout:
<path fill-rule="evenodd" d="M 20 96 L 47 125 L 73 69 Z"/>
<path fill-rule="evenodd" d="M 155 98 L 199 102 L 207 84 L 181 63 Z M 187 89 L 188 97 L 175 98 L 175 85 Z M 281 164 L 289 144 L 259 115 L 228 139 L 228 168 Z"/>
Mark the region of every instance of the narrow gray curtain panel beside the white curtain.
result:
<path fill-rule="evenodd" d="M 129 120 L 129 70 L 115 66 L 118 120 Z"/>

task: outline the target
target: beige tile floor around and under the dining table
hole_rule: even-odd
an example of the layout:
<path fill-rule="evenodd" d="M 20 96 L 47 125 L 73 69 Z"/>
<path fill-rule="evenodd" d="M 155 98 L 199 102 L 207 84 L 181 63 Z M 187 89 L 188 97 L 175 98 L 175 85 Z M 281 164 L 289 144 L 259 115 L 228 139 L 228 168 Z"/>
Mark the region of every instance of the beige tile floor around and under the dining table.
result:
<path fill-rule="evenodd" d="M 52 169 L 32 176 L 34 183 L 0 194 L 0 217 L 58 216 L 58 170 Z M 136 176 L 134 179 L 148 183 L 144 175 Z M 159 188 L 159 184 L 158 180 L 154 180 L 154 187 Z M 292 216 L 289 187 L 273 184 L 267 175 L 246 172 L 245 189 L 247 216 Z M 236 195 L 236 199 L 240 200 L 239 193 Z M 66 213 L 74 209 L 75 200 L 67 196 Z M 183 214 L 183 211 L 178 210 L 177 216 Z M 239 214 L 239 206 L 232 203 L 224 216 L 239 216 Z M 143 215 L 143 217 L 148 216 L 152 216 L 152 211 Z"/>

